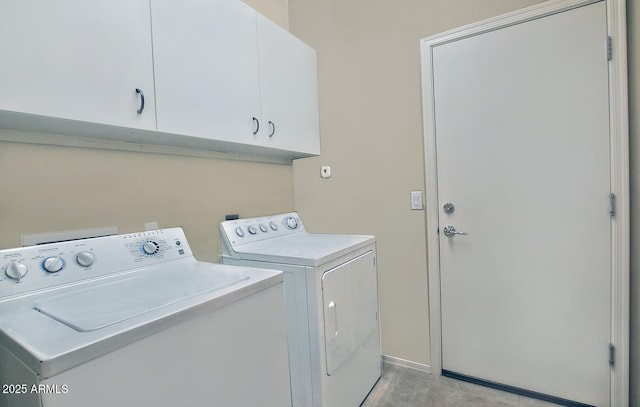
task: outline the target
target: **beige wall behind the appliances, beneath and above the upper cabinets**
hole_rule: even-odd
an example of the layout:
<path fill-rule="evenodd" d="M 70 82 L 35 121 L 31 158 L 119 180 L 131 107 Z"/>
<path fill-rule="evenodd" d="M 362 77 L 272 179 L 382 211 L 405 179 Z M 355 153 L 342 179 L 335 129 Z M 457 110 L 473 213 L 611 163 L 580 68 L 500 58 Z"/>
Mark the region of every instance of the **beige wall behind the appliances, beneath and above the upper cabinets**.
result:
<path fill-rule="evenodd" d="M 286 0 L 251 6 L 287 26 Z M 0 129 L 0 135 L 8 131 Z M 12 132 L 15 133 L 15 132 Z M 182 226 L 200 260 L 218 261 L 218 225 L 293 209 L 291 165 L 0 142 L 0 248 L 22 234 L 145 222 Z"/>

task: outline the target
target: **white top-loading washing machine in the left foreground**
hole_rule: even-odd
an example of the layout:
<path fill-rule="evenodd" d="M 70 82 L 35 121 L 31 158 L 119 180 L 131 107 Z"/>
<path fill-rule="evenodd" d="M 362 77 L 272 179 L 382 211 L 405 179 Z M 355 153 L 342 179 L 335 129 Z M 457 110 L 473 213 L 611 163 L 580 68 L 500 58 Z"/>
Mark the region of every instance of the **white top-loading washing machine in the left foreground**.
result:
<path fill-rule="evenodd" d="M 0 250 L 0 406 L 290 406 L 282 273 L 181 228 Z"/>

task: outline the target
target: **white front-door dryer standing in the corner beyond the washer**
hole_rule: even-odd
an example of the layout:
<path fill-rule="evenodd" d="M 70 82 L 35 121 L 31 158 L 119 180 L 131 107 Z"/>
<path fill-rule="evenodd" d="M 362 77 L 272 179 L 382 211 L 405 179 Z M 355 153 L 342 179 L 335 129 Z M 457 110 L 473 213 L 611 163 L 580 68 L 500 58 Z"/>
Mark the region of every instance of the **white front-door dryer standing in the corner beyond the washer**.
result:
<path fill-rule="evenodd" d="M 224 264 L 284 271 L 293 405 L 359 406 L 382 373 L 375 238 L 293 212 L 222 222 L 220 241 Z"/>

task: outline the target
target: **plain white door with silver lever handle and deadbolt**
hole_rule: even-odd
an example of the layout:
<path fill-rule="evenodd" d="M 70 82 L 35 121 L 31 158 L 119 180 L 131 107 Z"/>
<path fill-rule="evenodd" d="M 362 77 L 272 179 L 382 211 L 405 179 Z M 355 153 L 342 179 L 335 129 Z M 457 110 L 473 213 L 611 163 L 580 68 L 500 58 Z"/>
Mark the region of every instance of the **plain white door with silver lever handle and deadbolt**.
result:
<path fill-rule="evenodd" d="M 609 404 L 606 39 L 598 2 L 433 48 L 443 374 Z"/>

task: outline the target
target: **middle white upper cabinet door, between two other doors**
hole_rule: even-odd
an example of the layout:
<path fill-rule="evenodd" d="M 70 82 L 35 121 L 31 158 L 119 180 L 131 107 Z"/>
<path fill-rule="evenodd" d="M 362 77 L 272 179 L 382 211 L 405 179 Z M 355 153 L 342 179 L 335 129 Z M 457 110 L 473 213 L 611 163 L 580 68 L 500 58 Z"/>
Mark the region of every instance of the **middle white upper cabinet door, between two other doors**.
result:
<path fill-rule="evenodd" d="M 151 0 L 151 13 L 158 130 L 255 143 L 255 10 L 237 0 Z"/>

